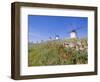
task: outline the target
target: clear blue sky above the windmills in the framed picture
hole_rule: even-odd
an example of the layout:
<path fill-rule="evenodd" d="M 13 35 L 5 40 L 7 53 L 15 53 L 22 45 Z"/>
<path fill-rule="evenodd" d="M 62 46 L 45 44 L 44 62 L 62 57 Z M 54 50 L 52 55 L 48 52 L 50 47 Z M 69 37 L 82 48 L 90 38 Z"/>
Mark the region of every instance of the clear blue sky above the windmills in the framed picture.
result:
<path fill-rule="evenodd" d="M 46 41 L 49 37 L 55 39 L 55 35 L 59 35 L 61 39 L 69 38 L 69 32 L 76 28 L 80 28 L 77 30 L 79 38 L 87 37 L 88 18 L 69 16 L 28 16 L 29 42 Z"/>

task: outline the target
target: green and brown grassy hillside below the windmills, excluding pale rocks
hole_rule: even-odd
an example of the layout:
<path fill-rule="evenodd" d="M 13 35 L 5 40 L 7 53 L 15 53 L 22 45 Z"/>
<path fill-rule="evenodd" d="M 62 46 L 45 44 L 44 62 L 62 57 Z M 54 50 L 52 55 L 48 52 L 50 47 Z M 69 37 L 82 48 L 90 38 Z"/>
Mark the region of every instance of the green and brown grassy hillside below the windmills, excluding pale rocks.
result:
<path fill-rule="evenodd" d="M 48 65 L 71 65 L 87 64 L 87 49 L 77 51 L 74 48 L 65 48 L 64 42 L 82 42 L 87 47 L 87 39 L 65 39 L 46 41 L 37 44 L 30 44 L 28 48 L 29 66 L 48 66 Z"/>

